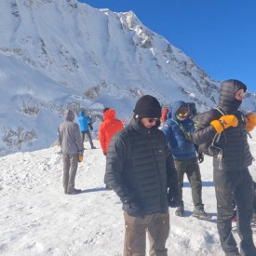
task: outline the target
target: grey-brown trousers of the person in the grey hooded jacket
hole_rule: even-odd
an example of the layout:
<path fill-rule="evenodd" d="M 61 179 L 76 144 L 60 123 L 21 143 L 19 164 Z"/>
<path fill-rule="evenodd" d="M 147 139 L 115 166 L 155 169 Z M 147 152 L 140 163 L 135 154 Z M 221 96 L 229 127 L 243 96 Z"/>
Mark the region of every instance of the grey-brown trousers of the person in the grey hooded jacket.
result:
<path fill-rule="evenodd" d="M 65 192 L 74 191 L 74 179 L 78 167 L 78 155 L 62 155 L 63 160 L 63 187 Z"/>

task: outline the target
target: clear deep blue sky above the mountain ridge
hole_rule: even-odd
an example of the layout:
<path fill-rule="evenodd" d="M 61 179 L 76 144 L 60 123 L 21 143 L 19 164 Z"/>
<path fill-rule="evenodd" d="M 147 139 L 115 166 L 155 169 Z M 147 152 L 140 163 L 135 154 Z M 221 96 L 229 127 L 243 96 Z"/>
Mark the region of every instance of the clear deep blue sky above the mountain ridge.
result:
<path fill-rule="evenodd" d="M 256 92 L 255 0 L 80 0 L 141 22 L 182 49 L 214 80 L 235 78 Z"/>

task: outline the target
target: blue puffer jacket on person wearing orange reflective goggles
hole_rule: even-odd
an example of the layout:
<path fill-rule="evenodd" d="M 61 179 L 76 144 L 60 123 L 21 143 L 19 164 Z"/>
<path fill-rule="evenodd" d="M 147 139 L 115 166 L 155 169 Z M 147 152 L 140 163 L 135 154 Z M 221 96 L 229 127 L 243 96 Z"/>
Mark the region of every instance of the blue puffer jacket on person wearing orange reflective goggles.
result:
<path fill-rule="evenodd" d="M 176 117 L 177 110 L 185 105 L 186 103 L 184 101 L 174 102 L 172 108 L 169 110 L 168 120 L 164 123 L 162 128 L 168 141 L 168 147 L 172 151 L 173 158 L 177 160 L 188 160 L 196 156 L 194 142 L 188 141 L 185 138 L 179 126 L 179 124 L 181 124 L 186 131 L 192 133 L 195 130 L 194 121 L 190 117 L 182 121 L 178 120 Z M 172 118 L 170 116 L 172 116 Z"/>

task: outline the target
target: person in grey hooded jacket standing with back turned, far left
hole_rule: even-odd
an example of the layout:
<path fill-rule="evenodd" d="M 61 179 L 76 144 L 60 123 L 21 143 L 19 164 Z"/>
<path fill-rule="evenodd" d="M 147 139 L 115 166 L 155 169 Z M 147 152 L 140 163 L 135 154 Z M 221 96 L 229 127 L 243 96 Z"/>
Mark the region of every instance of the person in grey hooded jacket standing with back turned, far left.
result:
<path fill-rule="evenodd" d="M 63 160 L 63 187 L 68 195 L 79 194 L 81 189 L 74 188 L 74 179 L 78 166 L 78 156 L 84 154 L 79 127 L 74 123 L 74 112 L 69 110 L 66 119 L 58 128 L 58 140 Z"/>

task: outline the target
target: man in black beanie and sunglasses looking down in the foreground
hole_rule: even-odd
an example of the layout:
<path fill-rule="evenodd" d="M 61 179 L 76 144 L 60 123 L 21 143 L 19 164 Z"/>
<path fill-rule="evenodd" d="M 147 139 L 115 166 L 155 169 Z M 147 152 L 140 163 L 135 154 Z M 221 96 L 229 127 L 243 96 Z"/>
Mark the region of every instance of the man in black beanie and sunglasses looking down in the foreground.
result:
<path fill-rule="evenodd" d="M 104 182 L 123 203 L 126 226 L 124 256 L 167 256 L 168 207 L 180 205 L 177 171 L 160 125 L 161 106 L 150 95 L 137 101 L 127 128 L 112 138 Z"/>

